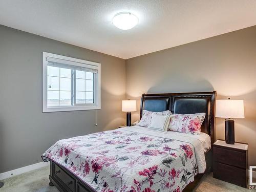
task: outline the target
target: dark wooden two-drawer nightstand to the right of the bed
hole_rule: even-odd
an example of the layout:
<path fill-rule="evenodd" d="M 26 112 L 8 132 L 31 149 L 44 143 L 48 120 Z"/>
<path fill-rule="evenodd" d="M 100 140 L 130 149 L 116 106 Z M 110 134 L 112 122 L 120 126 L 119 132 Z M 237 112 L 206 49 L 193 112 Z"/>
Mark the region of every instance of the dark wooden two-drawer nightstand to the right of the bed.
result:
<path fill-rule="evenodd" d="M 214 143 L 214 178 L 246 188 L 248 144 L 227 144 L 223 140 L 217 140 Z"/>

